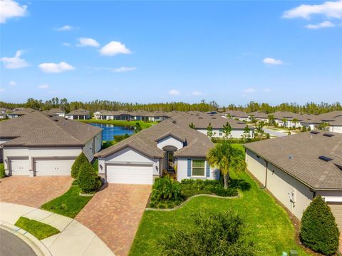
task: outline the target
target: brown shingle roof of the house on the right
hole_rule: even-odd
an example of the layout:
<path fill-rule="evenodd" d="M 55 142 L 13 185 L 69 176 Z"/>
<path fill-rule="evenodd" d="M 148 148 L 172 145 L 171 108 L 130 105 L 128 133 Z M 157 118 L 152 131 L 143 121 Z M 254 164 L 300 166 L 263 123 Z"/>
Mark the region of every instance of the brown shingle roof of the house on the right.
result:
<path fill-rule="evenodd" d="M 342 134 L 326 133 L 297 133 L 244 146 L 313 189 L 342 190 Z M 321 160 L 320 155 L 332 160 Z"/>

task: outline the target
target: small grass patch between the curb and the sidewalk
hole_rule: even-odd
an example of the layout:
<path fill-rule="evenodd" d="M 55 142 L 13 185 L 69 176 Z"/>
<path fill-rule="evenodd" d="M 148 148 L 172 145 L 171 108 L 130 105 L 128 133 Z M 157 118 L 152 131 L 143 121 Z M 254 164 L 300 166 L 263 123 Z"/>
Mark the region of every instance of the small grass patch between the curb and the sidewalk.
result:
<path fill-rule="evenodd" d="M 51 225 L 47 225 L 36 220 L 30 220 L 27 217 L 19 217 L 14 225 L 26 230 L 39 240 L 42 240 L 46 237 L 51 237 L 51 235 L 56 235 L 60 232 L 55 227 L 51 227 Z"/>

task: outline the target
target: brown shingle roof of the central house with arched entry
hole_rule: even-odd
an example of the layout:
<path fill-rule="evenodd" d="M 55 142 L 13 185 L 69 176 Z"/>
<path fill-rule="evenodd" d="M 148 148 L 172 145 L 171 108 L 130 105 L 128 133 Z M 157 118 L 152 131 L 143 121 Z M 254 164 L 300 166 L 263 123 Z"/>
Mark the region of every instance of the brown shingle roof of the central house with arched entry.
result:
<path fill-rule="evenodd" d="M 186 144 L 184 148 L 175 153 L 177 157 L 197 156 L 205 157 L 209 148 L 212 148 L 212 143 L 206 135 L 197 132 L 189 127 L 178 126 L 170 120 L 163 121 L 155 126 L 140 133 L 130 136 L 118 144 L 112 145 L 110 148 L 101 150 L 95 154 L 96 157 L 107 157 L 123 148 L 133 148 L 143 155 L 150 158 L 162 158 L 163 150 L 157 148 L 157 141 L 165 135 L 173 135 L 175 138 L 184 138 Z"/>

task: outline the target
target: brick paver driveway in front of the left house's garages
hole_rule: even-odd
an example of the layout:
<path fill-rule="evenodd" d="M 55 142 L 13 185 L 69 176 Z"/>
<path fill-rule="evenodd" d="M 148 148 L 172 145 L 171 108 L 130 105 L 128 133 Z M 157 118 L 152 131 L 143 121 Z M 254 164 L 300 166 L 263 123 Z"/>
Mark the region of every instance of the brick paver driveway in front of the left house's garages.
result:
<path fill-rule="evenodd" d="M 71 177 L 11 176 L 0 180 L 0 202 L 16 203 L 39 208 L 70 188 Z"/>

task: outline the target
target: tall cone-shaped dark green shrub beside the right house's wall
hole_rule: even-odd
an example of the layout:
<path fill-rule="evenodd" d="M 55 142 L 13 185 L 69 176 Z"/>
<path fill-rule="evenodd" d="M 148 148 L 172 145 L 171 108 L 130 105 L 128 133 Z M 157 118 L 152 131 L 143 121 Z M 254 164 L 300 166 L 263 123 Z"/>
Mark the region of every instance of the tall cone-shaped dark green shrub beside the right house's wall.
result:
<path fill-rule="evenodd" d="M 306 208 L 301 218 L 301 241 L 316 252 L 333 255 L 338 250 L 339 235 L 331 209 L 318 195 Z"/>

